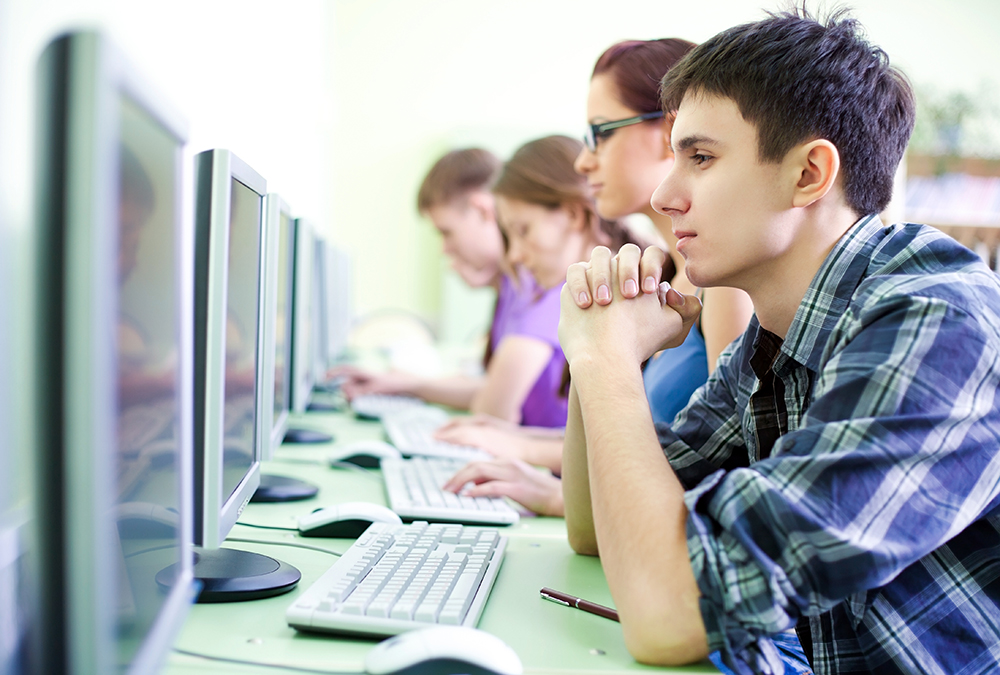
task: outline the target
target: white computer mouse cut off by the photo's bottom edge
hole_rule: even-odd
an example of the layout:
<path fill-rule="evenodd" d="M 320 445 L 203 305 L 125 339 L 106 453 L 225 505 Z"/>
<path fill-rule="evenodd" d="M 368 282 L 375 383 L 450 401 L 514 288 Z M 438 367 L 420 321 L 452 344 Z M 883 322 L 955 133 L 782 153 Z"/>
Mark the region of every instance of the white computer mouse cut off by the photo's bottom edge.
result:
<path fill-rule="evenodd" d="M 524 666 L 500 638 L 466 626 L 418 628 L 389 638 L 365 657 L 369 675 L 521 675 Z"/>

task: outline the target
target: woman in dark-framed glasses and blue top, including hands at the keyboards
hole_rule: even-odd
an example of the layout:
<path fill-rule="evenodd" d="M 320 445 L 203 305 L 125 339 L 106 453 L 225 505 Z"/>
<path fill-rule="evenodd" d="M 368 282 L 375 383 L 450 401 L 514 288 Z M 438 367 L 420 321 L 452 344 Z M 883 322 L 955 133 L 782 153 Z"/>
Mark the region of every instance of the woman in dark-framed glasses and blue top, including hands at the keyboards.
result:
<path fill-rule="evenodd" d="M 594 66 L 587 96 L 588 133 L 576 158 L 577 172 L 587 178 L 605 218 L 622 218 L 641 213 L 650 218 L 663 236 L 668 249 L 677 244 L 670 218 L 650 205 L 649 199 L 660 180 L 673 165 L 670 149 L 670 120 L 660 110 L 659 85 L 663 74 L 694 47 L 686 40 L 627 40 L 612 45 Z M 667 422 L 683 408 L 694 390 L 708 379 L 722 350 L 747 327 L 753 306 L 746 293 L 733 288 L 697 289 L 684 274 L 684 259 L 669 254 L 670 283 L 683 293 L 698 294 L 704 311 L 687 340 L 677 349 L 655 354 L 643 370 L 643 384 L 653 419 Z M 556 473 L 562 462 L 562 437 L 511 428 L 483 417 L 458 419 L 442 429 L 439 437 L 453 443 L 481 447 L 500 458 L 517 458 L 530 464 L 552 467 Z M 503 477 L 502 479 L 500 477 Z M 528 484 L 518 486 L 521 476 Z M 539 478 L 536 472 L 523 473 L 517 465 L 487 467 L 480 463 L 456 476 L 480 483 L 471 494 L 517 499 L 531 495 L 532 486 L 558 488 L 558 482 Z M 490 484 L 497 480 L 496 484 Z M 451 484 L 451 483 L 449 483 Z M 518 500 L 519 501 L 519 500 Z M 546 495 L 546 504 L 557 504 L 561 495 Z M 530 505 L 527 505 L 529 508 Z"/>

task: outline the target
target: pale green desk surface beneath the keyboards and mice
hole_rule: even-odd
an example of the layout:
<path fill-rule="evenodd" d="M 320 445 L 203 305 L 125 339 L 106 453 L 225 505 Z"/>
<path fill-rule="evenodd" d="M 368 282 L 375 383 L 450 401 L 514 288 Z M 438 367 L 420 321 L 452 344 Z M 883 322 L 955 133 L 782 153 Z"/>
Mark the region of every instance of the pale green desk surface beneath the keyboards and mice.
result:
<path fill-rule="evenodd" d="M 292 426 L 327 431 L 336 441 L 381 437 L 377 422 L 362 422 L 346 414 L 294 416 Z M 377 472 L 330 469 L 323 460 L 330 445 L 282 446 L 266 473 L 308 480 L 318 485 L 313 499 L 285 504 L 250 504 L 240 523 L 295 527 L 298 516 L 318 506 L 348 501 L 385 504 Z M 296 566 L 302 581 L 290 593 L 252 602 L 196 605 L 175 643 L 178 649 L 215 657 L 240 659 L 275 666 L 316 671 L 361 672 L 373 640 L 347 639 L 299 633 L 285 623 L 285 609 L 301 589 L 307 588 L 336 558 L 319 551 L 284 546 L 302 543 L 347 550 L 351 540 L 303 539 L 291 532 L 261 530 L 237 525 L 227 546 L 264 553 Z M 479 628 L 510 645 L 528 673 L 614 673 L 660 670 L 636 663 L 625 648 L 621 627 L 608 619 L 542 600 L 538 591 L 551 586 L 588 600 L 612 605 L 600 561 L 573 553 L 566 542 L 566 528 L 559 518 L 522 518 L 518 525 L 500 528 L 510 538 Z M 253 539 L 261 543 L 236 542 Z M 677 673 L 717 673 L 707 661 Z M 172 652 L 164 669 L 168 674 L 267 672 L 246 665 L 208 661 Z M 271 672 L 281 672 L 272 670 Z M 294 672 L 294 671 L 288 671 Z"/>

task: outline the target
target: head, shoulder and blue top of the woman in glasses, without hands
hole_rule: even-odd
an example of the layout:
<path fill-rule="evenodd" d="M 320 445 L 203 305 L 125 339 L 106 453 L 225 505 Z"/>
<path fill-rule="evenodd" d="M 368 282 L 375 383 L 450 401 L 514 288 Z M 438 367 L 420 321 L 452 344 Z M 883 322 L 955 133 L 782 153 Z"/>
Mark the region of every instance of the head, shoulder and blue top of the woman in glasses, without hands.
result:
<path fill-rule="evenodd" d="M 649 203 L 674 161 L 670 121 L 659 109 L 659 81 L 693 47 L 685 40 L 662 39 L 620 42 L 605 51 L 590 80 L 586 148 L 576 160 L 601 215 L 649 216 L 669 251 L 677 244 L 670 218 Z M 704 309 L 698 330 L 692 330 L 681 347 L 655 355 L 646 367 L 643 381 L 657 422 L 673 420 L 714 370 L 726 346 L 746 330 L 753 314 L 746 293 L 697 289 L 684 274 L 684 259 L 676 254 L 670 258 L 674 266 L 670 284 L 681 293 L 697 294 Z"/>

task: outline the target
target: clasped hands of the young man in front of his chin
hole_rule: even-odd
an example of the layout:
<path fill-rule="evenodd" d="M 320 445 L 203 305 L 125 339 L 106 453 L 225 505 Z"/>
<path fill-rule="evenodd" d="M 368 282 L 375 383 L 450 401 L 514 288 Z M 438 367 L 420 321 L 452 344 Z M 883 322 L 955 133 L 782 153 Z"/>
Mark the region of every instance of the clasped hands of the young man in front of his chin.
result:
<path fill-rule="evenodd" d="M 626 244 L 617 254 L 598 246 L 589 262 L 570 265 L 559 343 L 571 367 L 580 358 L 639 364 L 684 342 L 701 301 L 660 281 L 666 259 L 658 247 Z"/>

